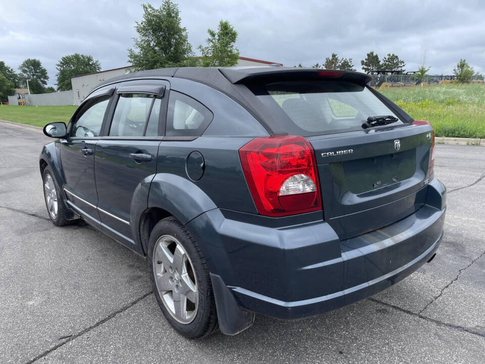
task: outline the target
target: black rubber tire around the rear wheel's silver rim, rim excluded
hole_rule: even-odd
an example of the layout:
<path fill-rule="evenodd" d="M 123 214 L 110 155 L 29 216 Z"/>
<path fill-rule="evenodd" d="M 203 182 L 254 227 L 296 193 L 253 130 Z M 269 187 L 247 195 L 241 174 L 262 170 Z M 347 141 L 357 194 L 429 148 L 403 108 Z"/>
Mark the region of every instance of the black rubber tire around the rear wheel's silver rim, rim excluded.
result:
<path fill-rule="evenodd" d="M 199 306 L 193 320 L 188 324 L 178 322 L 165 307 L 155 282 L 155 272 L 153 268 L 153 257 L 155 245 L 158 239 L 164 235 L 175 237 L 180 245 L 185 249 L 192 269 L 195 273 L 197 284 Z M 206 264 L 197 242 L 193 239 L 190 232 L 174 217 L 167 217 L 159 221 L 150 234 L 148 264 L 150 267 L 150 278 L 157 302 L 170 325 L 186 338 L 201 338 L 217 331 L 217 312 L 212 290 L 212 283 L 209 275 L 209 268 Z"/>

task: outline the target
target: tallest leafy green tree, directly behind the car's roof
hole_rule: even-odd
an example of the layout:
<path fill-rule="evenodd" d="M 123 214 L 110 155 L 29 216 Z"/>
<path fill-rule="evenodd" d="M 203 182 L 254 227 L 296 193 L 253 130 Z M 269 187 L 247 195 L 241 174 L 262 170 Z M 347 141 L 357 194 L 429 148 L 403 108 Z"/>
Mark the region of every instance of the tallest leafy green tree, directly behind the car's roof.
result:
<path fill-rule="evenodd" d="M 193 56 L 187 29 L 180 25 L 178 6 L 164 0 L 159 9 L 142 4 L 143 20 L 135 22 L 138 38 L 133 38 L 133 49 L 128 59 L 134 71 L 163 67 L 184 66 L 184 60 Z"/>

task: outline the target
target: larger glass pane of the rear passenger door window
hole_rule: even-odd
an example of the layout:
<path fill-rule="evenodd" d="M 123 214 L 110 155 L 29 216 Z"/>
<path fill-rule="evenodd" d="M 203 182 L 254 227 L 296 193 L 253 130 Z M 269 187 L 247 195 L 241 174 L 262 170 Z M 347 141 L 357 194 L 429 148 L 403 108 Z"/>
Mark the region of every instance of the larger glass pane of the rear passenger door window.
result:
<path fill-rule="evenodd" d="M 142 136 L 153 101 L 151 94 L 120 94 L 110 135 Z"/>

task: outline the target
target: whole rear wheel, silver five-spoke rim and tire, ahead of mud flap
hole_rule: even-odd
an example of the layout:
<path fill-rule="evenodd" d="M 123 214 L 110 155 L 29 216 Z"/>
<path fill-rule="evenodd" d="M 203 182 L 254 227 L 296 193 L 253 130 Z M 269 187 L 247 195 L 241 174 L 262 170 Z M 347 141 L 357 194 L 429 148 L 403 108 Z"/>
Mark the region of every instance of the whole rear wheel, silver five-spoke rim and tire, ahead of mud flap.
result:
<path fill-rule="evenodd" d="M 209 268 L 196 241 L 177 219 L 159 221 L 150 235 L 152 286 L 172 327 L 188 338 L 217 330 Z"/>

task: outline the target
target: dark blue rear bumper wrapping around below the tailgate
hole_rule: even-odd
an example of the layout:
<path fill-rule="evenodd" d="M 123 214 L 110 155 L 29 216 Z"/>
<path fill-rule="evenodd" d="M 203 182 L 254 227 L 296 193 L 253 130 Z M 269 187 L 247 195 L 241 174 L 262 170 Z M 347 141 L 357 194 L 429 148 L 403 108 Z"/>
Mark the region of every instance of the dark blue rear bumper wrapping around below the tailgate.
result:
<path fill-rule="evenodd" d="M 344 241 L 322 220 L 259 224 L 219 209 L 188 228 L 201 242 L 211 273 L 224 283 L 224 293 L 214 290 L 216 303 L 226 297 L 227 306 L 228 291 L 239 309 L 298 319 L 380 292 L 432 257 L 443 236 L 446 189 L 437 179 L 426 188 L 426 203 L 415 213 Z"/>

